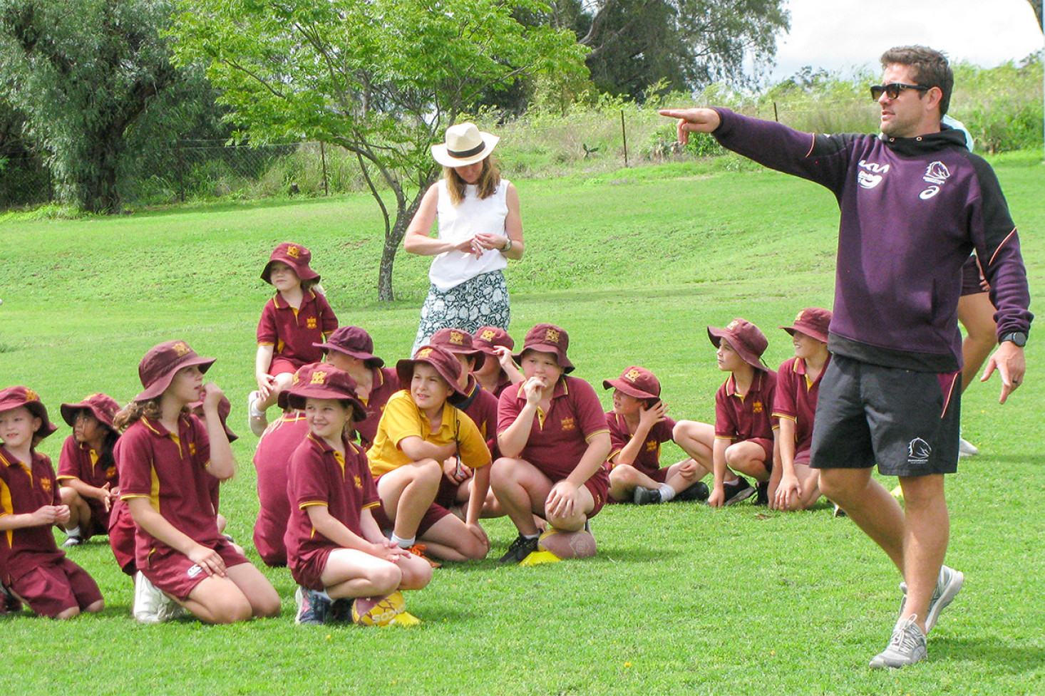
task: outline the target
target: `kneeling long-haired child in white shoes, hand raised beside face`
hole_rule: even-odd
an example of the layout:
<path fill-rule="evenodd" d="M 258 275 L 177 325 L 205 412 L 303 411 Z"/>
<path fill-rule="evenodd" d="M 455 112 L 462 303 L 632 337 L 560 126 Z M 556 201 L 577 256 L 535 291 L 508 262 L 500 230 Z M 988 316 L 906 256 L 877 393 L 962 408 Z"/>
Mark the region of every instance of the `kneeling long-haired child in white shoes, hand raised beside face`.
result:
<path fill-rule="evenodd" d="M 279 614 L 279 595 L 217 529 L 215 480 L 235 473 L 218 404 L 204 384 L 214 363 L 184 341 L 154 346 L 138 366 L 144 390 L 116 416 L 120 500 L 135 523 L 134 617 L 159 623 L 186 609 L 212 624 Z M 203 401 L 204 418 L 189 404 Z"/>

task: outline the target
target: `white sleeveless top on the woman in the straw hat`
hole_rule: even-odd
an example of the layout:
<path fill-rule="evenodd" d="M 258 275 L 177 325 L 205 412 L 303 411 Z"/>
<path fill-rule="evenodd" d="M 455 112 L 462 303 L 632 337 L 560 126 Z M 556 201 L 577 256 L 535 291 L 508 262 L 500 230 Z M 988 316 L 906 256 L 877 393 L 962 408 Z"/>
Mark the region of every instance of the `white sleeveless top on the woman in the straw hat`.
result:
<path fill-rule="evenodd" d="M 457 243 L 480 232 L 507 234 L 505 218 L 508 216 L 509 183 L 507 179 L 502 179 L 493 194 L 484 200 L 475 194 L 473 185 L 468 185 L 461 205 L 455 206 L 446 191 L 446 180 L 440 179 L 437 184 L 439 205 L 436 209 L 439 238 Z M 486 250 L 479 258 L 474 254 L 448 251 L 439 254 L 432 261 L 428 279 L 433 285 L 445 292 L 480 274 L 502 271 L 507 265 L 508 259 L 496 249 Z"/>

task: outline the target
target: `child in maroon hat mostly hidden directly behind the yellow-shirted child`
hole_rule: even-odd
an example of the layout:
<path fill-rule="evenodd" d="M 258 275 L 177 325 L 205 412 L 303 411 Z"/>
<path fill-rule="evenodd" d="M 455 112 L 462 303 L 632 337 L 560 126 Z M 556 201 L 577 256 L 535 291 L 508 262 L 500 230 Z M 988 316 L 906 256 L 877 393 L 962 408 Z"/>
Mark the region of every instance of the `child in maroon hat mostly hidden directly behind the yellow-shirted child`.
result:
<path fill-rule="evenodd" d="M 471 334 L 456 328 L 439 329 L 432 334 L 432 345 L 442 348 L 458 358 L 461 364 L 461 374 L 458 376 L 458 387 L 464 392 L 464 398 L 457 408 L 464 411 L 479 428 L 490 456 L 496 458 L 497 444 L 497 397 L 479 386 L 472 374 L 477 362 L 486 358 L 486 354 L 472 343 Z M 439 494 L 436 503 L 444 508 L 454 509 L 461 503 L 467 503 L 471 496 L 472 470 L 464 466 L 457 457 L 450 457 L 443 462 L 443 479 L 439 484 Z M 455 514 L 464 517 L 460 508 Z M 483 517 L 500 517 L 503 512 L 497 506 L 493 493 L 487 493 L 483 505 Z"/>

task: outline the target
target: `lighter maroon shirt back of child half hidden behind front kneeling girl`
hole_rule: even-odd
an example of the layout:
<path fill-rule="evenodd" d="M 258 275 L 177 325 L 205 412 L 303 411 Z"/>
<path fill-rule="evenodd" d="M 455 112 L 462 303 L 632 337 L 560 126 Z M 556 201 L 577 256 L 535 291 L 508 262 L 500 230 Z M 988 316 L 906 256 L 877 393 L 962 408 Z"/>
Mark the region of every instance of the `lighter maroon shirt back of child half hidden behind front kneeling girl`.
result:
<path fill-rule="evenodd" d="M 291 456 L 307 436 L 305 414 L 294 411 L 283 414 L 265 430 L 254 450 L 259 503 L 254 548 L 269 564 L 286 563 L 283 535 L 291 518 L 291 503 L 286 497 Z"/>

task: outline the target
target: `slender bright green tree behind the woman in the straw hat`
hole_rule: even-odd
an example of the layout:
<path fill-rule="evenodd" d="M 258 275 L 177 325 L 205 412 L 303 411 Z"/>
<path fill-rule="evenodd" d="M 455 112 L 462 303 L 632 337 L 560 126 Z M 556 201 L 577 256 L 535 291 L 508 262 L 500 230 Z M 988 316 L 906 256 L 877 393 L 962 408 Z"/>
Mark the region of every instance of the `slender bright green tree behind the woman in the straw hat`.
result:
<path fill-rule="evenodd" d="M 437 176 L 429 146 L 491 88 L 583 69 L 572 33 L 525 26 L 533 0 L 186 0 L 172 34 L 205 62 L 252 142 L 303 138 L 355 155 L 385 222 L 378 298 Z M 391 205 L 387 201 L 391 194 Z"/>

